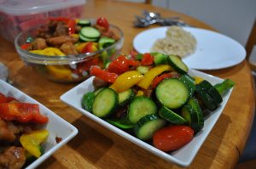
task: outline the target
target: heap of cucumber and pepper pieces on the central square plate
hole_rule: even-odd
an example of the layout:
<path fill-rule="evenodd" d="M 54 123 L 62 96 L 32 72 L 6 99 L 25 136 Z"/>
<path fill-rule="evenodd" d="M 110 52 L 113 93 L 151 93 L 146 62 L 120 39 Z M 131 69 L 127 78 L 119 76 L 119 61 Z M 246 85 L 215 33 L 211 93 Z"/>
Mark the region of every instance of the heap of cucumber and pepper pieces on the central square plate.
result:
<path fill-rule="evenodd" d="M 119 55 L 90 74 L 95 90 L 84 93 L 85 110 L 115 127 L 169 152 L 188 144 L 234 86 L 230 79 L 212 85 L 189 76 L 178 56 L 160 53 Z"/>

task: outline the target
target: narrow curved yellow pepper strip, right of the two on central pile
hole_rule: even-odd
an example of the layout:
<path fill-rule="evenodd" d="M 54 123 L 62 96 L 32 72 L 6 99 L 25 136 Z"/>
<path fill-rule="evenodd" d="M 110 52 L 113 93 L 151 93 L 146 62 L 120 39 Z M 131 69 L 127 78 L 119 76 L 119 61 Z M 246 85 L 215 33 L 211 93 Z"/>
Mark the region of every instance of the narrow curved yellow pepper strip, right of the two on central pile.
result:
<path fill-rule="evenodd" d="M 148 70 L 148 72 L 144 75 L 144 78 L 142 81 L 137 83 L 138 87 L 142 87 L 144 89 L 148 89 L 151 82 L 154 80 L 154 77 L 160 75 L 162 72 L 166 70 L 172 70 L 171 65 L 157 65 L 151 70 Z"/>

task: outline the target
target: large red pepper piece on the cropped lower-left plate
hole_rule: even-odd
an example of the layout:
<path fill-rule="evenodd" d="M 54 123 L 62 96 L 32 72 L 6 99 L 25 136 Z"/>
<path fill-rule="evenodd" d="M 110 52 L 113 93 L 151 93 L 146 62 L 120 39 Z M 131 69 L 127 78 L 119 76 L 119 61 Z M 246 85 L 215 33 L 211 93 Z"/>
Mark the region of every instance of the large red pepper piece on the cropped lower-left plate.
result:
<path fill-rule="evenodd" d="M 0 104 L 0 117 L 6 121 L 38 123 L 48 122 L 48 117 L 41 115 L 38 104 L 3 103 Z"/>

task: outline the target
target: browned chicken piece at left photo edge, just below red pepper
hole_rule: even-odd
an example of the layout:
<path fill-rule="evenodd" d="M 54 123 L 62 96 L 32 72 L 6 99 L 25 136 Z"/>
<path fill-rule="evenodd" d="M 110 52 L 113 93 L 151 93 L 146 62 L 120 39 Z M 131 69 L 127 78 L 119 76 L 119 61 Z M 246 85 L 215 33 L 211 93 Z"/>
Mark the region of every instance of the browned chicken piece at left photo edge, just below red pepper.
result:
<path fill-rule="evenodd" d="M 0 140 L 14 142 L 15 138 L 15 134 L 9 130 L 7 123 L 0 119 Z"/>

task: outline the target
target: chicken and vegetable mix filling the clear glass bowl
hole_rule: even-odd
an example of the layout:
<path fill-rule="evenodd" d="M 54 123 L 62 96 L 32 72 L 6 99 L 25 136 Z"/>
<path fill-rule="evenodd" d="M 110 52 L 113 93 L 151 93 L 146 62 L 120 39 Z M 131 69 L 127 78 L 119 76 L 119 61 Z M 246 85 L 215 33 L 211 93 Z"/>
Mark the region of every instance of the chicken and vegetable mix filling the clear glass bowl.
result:
<path fill-rule="evenodd" d="M 61 56 L 76 57 L 79 54 L 95 53 L 108 48 L 120 38 L 104 17 L 97 18 L 95 22 L 65 17 L 49 18 L 47 25 L 38 27 L 36 31 L 37 34 L 27 37 L 26 43 L 20 48 L 32 54 L 60 56 L 60 59 Z M 40 72 L 49 73 L 59 81 L 79 81 L 88 77 L 91 65 L 104 67 L 116 52 L 115 48 L 111 48 L 72 66 L 69 63 L 41 65 Z"/>

